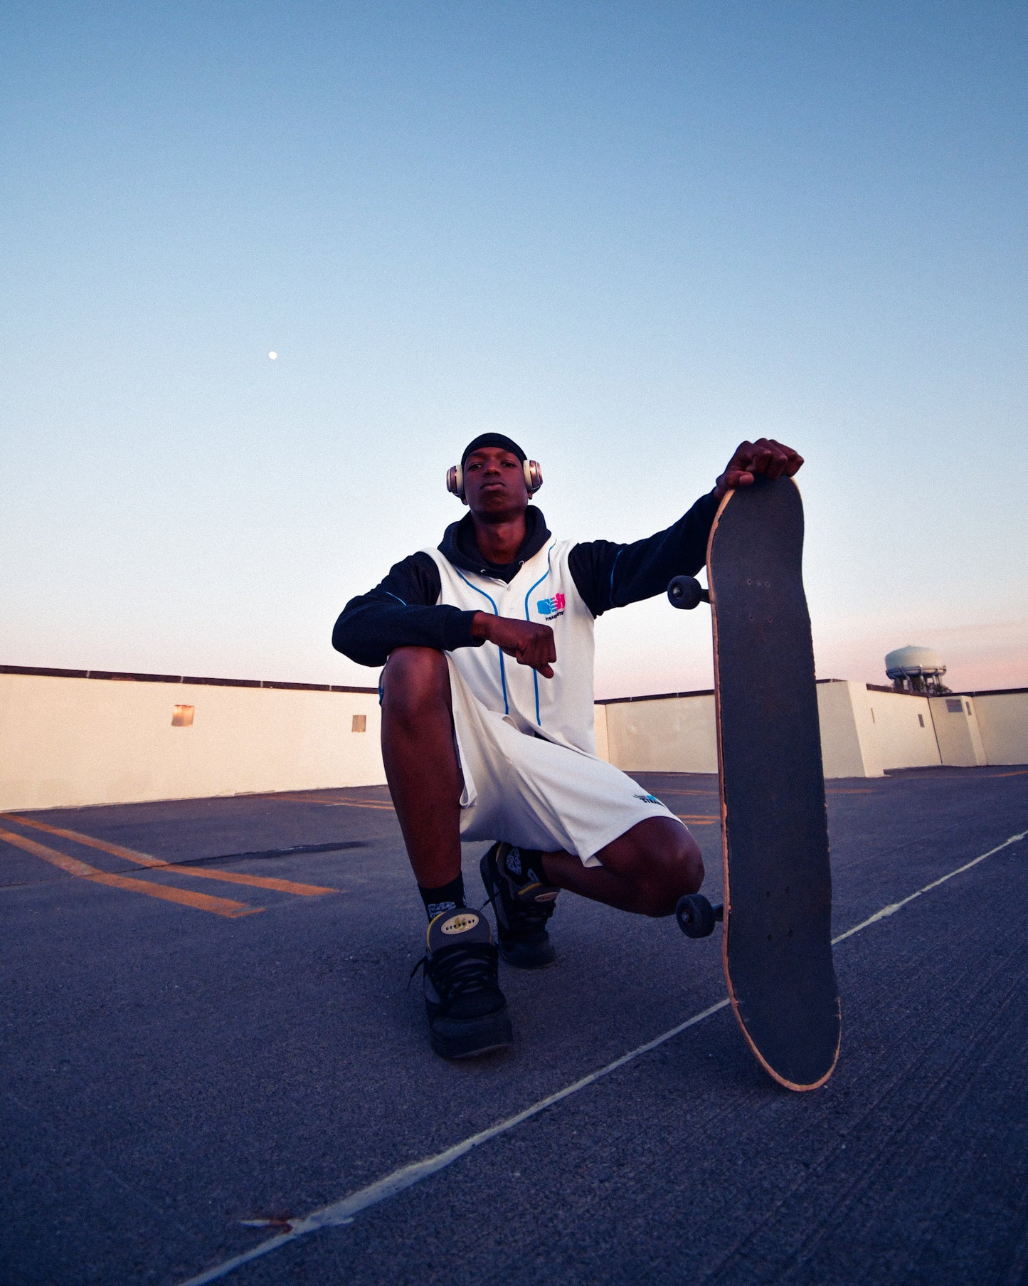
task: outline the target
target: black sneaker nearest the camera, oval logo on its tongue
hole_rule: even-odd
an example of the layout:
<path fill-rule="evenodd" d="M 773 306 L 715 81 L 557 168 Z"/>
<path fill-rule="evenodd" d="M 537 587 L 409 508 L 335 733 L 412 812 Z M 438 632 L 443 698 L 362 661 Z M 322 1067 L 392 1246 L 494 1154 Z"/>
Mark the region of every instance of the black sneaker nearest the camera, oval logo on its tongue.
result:
<path fill-rule="evenodd" d="M 443 1058 L 474 1058 L 514 1043 L 497 981 L 488 921 L 474 910 L 443 910 L 428 926 L 424 968 L 428 1037 Z M 411 974 L 414 977 L 414 974 Z"/>

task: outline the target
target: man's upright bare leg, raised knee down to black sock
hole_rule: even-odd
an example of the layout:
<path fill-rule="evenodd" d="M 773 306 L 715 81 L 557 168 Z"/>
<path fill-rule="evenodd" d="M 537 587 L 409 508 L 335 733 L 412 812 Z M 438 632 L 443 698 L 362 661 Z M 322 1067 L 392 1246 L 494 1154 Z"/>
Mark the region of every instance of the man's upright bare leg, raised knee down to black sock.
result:
<path fill-rule="evenodd" d="M 439 889 L 460 874 L 463 788 L 446 657 L 428 647 L 396 648 L 382 685 L 389 793 L 418 883 Z"/>

